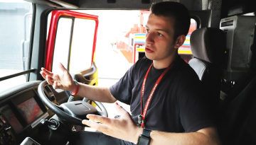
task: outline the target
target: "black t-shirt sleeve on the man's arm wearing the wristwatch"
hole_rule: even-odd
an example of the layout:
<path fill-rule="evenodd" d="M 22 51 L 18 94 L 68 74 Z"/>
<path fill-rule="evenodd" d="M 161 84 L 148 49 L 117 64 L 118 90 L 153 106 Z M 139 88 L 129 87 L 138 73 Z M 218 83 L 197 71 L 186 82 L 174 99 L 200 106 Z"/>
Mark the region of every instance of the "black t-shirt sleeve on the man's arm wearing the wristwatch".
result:
<path fill-rule="evenodd" d="M 184 81 L 178 91 L 179 114 L 185 132 L 215 126 L 213 105 L 207 99 L 201 81 Z"/>

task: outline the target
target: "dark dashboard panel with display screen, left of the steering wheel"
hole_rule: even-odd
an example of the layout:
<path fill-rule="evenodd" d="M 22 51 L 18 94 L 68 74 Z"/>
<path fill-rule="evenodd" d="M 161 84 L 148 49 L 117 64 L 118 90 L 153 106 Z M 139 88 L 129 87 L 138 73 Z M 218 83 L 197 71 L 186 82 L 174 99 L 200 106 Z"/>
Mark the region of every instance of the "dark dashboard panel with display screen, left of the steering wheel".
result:
<path fill-rule="evenodd" d="M 1 106 L 1 121 L 10 124 L 11 129 L 16 134 L 20 133 L 28 125 L 31 128 L 36 127 L 40 120 L 35 122 L 38 118 L 41 119 L 46 108 L 39 105 L 38 96 L 31 90 L 18 97 L 8 101 L 6 105 Z M 48 117 L 43 115 L 43 117 Z"/>

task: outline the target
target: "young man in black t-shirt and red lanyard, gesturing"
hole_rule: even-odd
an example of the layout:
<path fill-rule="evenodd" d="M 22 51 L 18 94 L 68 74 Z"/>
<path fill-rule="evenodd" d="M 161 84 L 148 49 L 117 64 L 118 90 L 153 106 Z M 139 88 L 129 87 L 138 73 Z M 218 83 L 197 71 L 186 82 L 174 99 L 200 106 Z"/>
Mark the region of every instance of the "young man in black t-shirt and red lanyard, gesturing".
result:
<path fill-rule="evenodd" d="M 219 144 L 198 76 L 178 57 L 178 47 L 185 41 L 189 25 L 188 10 L 182 4 L 171 1 L 153 4 L 146 23 L 146 58 L 140 59 L 110 88 L 82 83 L 76 86 L 61 64 L 63 74 L 42 69 L 43 78 L 54 88 L 74 91 L 92 100 L 107 103 L 120 100 L 130 105 L 132 116 L 118 104 L 117 119 L 87 115 L 90 120 L 82 123 L 103 134 L 80 132 L 70 142 Z"/>

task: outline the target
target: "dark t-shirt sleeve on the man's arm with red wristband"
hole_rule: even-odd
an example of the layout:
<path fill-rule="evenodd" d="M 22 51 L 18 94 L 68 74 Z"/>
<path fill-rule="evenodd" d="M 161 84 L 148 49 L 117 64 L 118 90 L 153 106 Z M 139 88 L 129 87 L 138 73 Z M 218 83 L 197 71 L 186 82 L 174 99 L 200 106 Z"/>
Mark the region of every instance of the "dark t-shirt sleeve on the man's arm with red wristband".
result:
<path fill-rule="evenodd" d="M 133 88 L 133 71 L 134 65 L 117 81 L 113 86 L 110 86 L 110 93 L 122 103 L 130 105 Z"/>

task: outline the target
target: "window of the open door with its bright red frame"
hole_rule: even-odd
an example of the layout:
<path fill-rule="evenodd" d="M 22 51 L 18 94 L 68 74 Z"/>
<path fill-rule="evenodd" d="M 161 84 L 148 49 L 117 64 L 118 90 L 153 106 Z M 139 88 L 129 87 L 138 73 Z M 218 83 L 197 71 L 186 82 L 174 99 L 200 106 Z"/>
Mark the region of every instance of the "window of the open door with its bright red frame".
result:
<path fill-rule="evenodd" d="M 65 11 L 65 13 L 71 14 L 63 16 L 62 11 L 53 11 L 49 15 L 52 18 L 48 32 L 50 41 L 47 44 L 47 55 L 53 54 L 53 57 L 47 57 L 46 68 L 56 71 L 60 62 L 70 73 L 76 73 L 89 69 L 93 62 L 97 16 L 73 11 Z M 59 16 L 58 20 L 53 19 L 55 15 Z M 57 30 L 55 31 L 54 28 Z M 55 35 L 55 40 L 52 35 Z"/>

